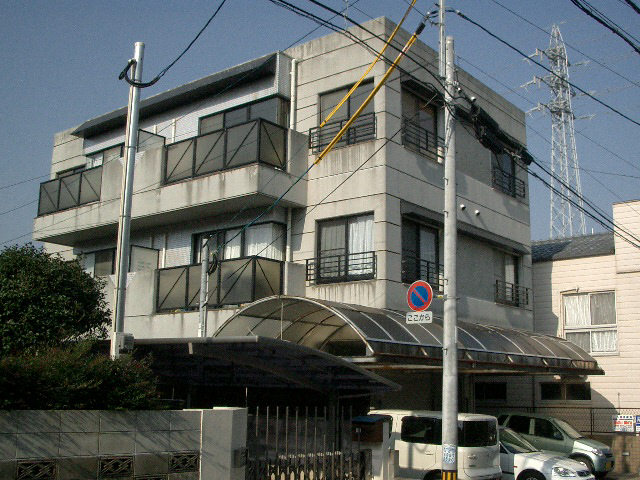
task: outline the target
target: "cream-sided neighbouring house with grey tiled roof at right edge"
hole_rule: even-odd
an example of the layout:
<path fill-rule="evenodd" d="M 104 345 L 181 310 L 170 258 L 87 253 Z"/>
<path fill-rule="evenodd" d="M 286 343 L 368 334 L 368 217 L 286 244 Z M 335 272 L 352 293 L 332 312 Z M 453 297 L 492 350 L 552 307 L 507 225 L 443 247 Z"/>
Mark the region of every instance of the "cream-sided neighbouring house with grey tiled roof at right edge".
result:
<path fill-rule="evenodd" d="M 539 400 L 640 414 L 640 201 L 613 205 L 617 230 L 533 242 L 534 328 L 581 346 L 605 375 L 544 380 Z M 634 245 L 635 244 L 635 245 Z"/>

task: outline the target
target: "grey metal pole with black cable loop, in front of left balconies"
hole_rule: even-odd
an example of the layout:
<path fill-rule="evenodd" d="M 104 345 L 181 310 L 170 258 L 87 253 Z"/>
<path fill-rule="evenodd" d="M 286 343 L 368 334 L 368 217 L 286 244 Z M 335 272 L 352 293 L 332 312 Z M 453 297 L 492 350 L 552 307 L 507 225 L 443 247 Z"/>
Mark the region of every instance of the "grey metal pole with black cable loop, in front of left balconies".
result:
<path fill-rule="evenodd" d="M 134 46 L 133 81 L 142 81 L 142 60 L 144 43 L 136 42 Z M 120 341 L 124 334 L 124 306 L 127 293 L 127 272 L 129 271 L 129 236 L 131 233 L 131 201 L 133 196 L 133 173 L 138 148 L 138 116 L 140 106 L 140 87 L 129 87 L 129 108 L 125 130 L 125 159 L 122 173 L 122 190 L 120 194 L 120 216 L 118 218 L 118 244 L 116 248 L 116 289 L 115 313 L 111 332 L 111 357 L 120 356 Z"/>

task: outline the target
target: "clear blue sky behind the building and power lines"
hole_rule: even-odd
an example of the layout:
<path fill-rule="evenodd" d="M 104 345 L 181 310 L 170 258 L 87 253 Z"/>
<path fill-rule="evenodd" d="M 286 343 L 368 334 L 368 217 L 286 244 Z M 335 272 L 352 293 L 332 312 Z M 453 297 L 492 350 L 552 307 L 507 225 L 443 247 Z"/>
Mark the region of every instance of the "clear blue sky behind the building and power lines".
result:
<path fill-rule="evenodd" d="M 307 0 L 291 1 L 324 18 L 331 16 Z M 336 9 L 346 5 L 344 0 L 324 1 Z M 609 68 L 594 62 L 574 67 L 571 81 L 640 122 L 640 55 L 623 40 L 569 0 L 498 1 L 547 33 L 494 0 L 449 0 L 448 6 L 527 53 L 547 48 L 551 25 L 560 24 L 571 63 L 585 60 L 586 54 Z M 390 0 L 350 3 L 348 15 L 358 21 L 384 15 L 397 22 L 407 6 Z M 424 12 L 433 3 L 418 0 L 417 6 Z M 640 15 L 624 0 L 591 3 L 640 37 Z M 54 133 L 126 104 L 127 85 L 117 76 L 133 55 L 133 44 L 146 44 L 144 80 L 150 80 L 186 47 L 218 5 L 218 0 L 0 1 L 0 248 L 31 239 Z M 406 28 L 413 30 L 418 21 L 419 15 L 412 14 Z M 343 18 L 334 22 L 346 25 Z M 143 92 L 143 98 L 283 50 L 314 28 L 312 21 L 267 0 L 227 0 L 198 42 L 156 86 Z M 307 39 L 326 33 L 321 28 Z M 447 16 L 447 34 L 455 38 L 458 65 L 519 108 L 526 111 L 549 100 L 544 88 L 520 88 L 534 75 L 545 75 L 541 68 L 453 14 Z M 437 39 L 436 27 L 428 27 L 421 36 L 434 48 Z M 640 198 L 640 127 L 586 97 L 575 98 L 573 106 L 578 116 L 595 115 L 576 121 L 583 194 L 611 215 L 612 203 Z M 529 150 L 549 162 L 550 117 L 534 113 L 527 123 Z M 532 237 L 548 238 L 549 191 L 530 179 L 530 192 Z M 589 232 L 602 231 L 590 220 L 587 227 Z"/>

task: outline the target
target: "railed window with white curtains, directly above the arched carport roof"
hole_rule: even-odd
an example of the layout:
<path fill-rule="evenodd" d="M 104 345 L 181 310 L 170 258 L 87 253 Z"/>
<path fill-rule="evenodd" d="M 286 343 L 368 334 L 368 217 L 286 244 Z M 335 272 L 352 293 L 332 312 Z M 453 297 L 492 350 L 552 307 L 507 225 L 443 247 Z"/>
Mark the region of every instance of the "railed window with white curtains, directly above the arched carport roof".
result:
<path fill-rule="evenodd" d="M 364 280 L 374 277 L 373 215 L 325 220 L 318 223 L 317 282 Z M 307 278 L 310 264 L 307 263 Z"/>

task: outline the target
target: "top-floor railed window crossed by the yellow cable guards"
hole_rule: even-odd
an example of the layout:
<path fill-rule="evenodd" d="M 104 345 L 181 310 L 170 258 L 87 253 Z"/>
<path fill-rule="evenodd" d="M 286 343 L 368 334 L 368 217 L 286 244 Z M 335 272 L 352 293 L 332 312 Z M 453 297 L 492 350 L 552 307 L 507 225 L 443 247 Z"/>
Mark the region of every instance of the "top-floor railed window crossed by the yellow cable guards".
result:
<path fill-rule="evenodd" d="M 351 90 L 351 87 L 344 87 L 332 92 L 320 95 L 320 121 L 324 122 L 333 109 L 342 101 L 344 96 Z M 316 127 L 309 131 L 309 144 L 314 152 L 319 152 L 326 147 L 336 134 L 342 129 L 345 123 L 360 108 L 364 100 L 373 91 L 373 82 L 360 84 L 351 96 L 340 106 L 340 108 L 329 119 L 329 122 L 322 128 Z M 376 138 L 376 118 L 373 107 L 373 100 L 364 108 L 360 116 L 353 122 L 351 127 L 345 132 L 336 147 L 351 145 L 354 143 L 373 140 Z"/>

